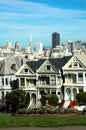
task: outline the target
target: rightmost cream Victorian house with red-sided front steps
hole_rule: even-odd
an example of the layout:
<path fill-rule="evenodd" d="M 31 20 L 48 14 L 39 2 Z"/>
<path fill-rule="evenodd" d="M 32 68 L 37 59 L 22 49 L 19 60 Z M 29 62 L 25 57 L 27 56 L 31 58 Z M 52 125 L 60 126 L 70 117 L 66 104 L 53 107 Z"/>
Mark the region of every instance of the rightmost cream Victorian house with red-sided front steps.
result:
<path fill-rule="evenodd" d="M 63 107 L 74 107 L 76 95 L 86 92 L 86 55 L 74 55 L 63 67 Z"/>

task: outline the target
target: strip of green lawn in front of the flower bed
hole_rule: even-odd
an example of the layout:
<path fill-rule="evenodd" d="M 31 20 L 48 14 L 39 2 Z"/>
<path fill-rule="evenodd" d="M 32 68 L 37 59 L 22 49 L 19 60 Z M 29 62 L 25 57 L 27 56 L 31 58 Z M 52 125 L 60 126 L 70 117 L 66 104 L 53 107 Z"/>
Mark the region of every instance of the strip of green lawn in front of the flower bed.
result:
<path fill-rule="evenodd" d="M 86 125 L 86 116 L 11 116 L 11 114 L 0 114 L 0 128 L 67 125 Z"/>

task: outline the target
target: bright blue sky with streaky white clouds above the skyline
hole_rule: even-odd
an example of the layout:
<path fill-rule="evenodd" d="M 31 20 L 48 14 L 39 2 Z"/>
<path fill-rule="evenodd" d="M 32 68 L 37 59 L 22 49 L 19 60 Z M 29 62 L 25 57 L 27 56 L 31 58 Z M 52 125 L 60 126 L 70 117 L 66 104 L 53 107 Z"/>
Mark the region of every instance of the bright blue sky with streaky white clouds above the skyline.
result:
<path fill-rule="evenodd" d="M 18 41 L 22 48 L 42 42 L 52 46 L 52 33 L 86 41 L 86 0 L 0 0 L 0 46 Z"/>

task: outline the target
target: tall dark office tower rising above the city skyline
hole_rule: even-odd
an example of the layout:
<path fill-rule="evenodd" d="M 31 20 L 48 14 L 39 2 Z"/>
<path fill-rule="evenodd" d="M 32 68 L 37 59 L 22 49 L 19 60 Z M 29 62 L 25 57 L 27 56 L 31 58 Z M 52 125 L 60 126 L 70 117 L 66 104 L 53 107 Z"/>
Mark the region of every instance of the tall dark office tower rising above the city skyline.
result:
<path fill-rule="evenodd" d="M 54 32 L 52 34 L 52 48 L 60 45 L 60 34 L 58 32 Z"/>

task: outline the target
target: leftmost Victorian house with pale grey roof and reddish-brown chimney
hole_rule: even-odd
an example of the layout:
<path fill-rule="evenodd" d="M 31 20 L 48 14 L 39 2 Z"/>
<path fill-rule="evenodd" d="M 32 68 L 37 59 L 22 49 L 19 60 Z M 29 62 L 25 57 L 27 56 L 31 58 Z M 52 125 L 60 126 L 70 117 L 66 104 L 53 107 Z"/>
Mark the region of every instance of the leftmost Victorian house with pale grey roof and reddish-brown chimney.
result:
<path fill-rule="evenodd" d="M 15 73 L 22 65 L 22 57 L 13 56 L 0 60 L 0 102 L 3 102 L 6 93 L 18 86 Z"/>

